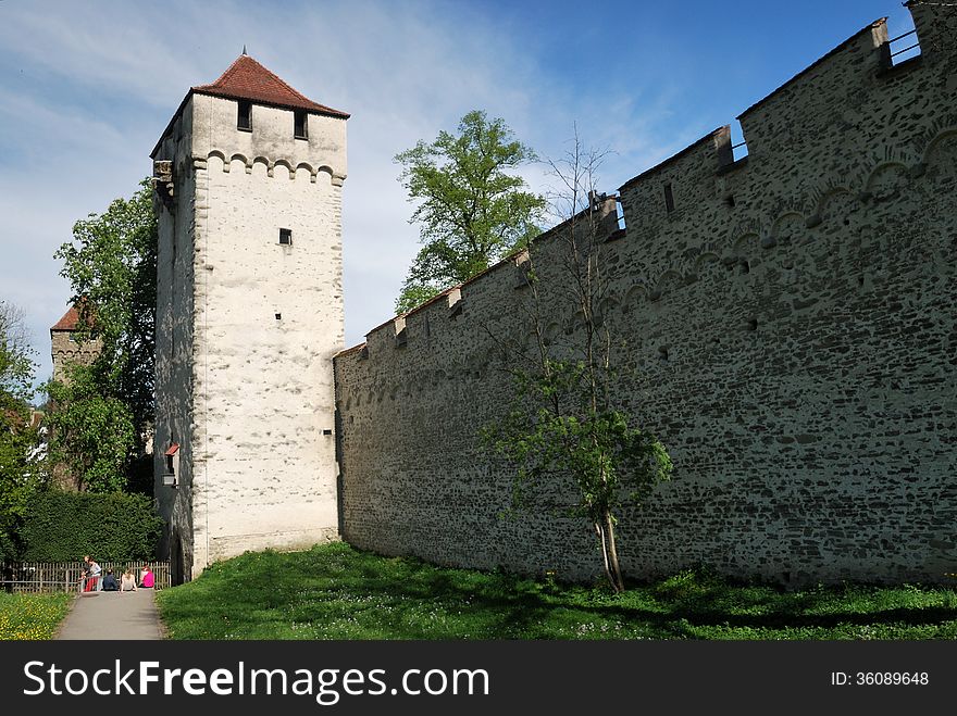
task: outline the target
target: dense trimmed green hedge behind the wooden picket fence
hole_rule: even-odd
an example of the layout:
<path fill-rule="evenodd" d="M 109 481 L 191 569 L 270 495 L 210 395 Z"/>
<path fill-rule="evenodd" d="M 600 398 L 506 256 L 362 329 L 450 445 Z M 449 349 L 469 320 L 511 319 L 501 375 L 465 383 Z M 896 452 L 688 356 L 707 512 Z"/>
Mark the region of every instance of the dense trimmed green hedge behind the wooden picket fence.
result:
<path fill-rule="evenodd" d="M 23 528 L 24 562 L 152 560 L 163 530 L 153 500 L 145 494 L 39 493 Z"/>

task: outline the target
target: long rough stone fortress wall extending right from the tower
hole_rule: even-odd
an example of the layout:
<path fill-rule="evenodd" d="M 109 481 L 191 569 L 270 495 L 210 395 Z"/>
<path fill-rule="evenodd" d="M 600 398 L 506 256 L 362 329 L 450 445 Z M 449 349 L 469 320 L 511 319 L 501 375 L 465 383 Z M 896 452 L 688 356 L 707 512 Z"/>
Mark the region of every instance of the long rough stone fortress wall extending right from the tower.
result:
<path fill-rule="evenodd" d="M 675 464 L 622 515 L 627 574 L 957 571 L 957 13 L 911 13 L 918 58 L 891 66 L 874 23 L 738 117 L 746 159 L 718 129 L 621 187 L 624 230 L 602 208 L 617 399 Z M 558 230 L 536 272 L 548 335 L 572 340 Z M 335 359 L 344 539 L 600 571 L 583 522 L 499 517 L 512 472 L 476 437 L 511 395 L 499 341 L 529 332 L 523 285 L 506 261 Z"/>

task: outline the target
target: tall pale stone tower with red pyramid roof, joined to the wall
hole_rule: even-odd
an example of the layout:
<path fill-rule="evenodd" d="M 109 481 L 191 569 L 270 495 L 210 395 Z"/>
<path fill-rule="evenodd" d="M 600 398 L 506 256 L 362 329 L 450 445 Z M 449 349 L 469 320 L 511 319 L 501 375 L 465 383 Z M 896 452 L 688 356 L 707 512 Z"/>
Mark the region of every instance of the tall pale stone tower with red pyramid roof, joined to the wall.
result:
<path fill-rule="evenodd" d="M 156 492 L 176 581 L 337 537 L 348 116 L 244 52 L 187 92 L 151 154 Z"/>

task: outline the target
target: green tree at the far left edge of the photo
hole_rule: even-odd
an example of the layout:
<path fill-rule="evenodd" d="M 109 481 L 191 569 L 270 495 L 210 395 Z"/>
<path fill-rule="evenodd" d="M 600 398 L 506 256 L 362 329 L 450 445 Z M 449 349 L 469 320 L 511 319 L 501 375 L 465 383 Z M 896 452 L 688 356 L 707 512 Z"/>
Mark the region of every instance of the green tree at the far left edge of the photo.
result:
<path fill-rule="evenodd" d="M 0 301 L 0 556 L 16 552 L 30 497 L 44 482 L 40 436 L 30 419 L 34 363 L 23 313 Z"/>

